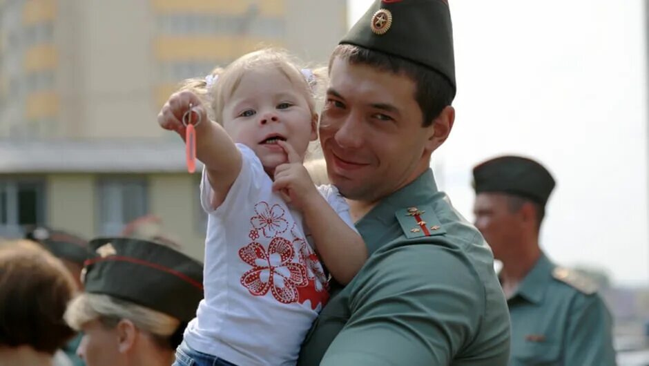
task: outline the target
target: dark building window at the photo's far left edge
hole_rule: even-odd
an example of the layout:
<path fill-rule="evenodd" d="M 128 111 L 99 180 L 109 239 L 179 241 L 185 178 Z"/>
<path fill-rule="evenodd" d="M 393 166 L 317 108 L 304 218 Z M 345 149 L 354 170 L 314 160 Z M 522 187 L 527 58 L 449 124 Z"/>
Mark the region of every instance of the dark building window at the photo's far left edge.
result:
<path fill-rule="evenodd" d="M 20 237 L 45 221 L 45 186 L 33 180 L 0 180 L 0 236 Z"/>

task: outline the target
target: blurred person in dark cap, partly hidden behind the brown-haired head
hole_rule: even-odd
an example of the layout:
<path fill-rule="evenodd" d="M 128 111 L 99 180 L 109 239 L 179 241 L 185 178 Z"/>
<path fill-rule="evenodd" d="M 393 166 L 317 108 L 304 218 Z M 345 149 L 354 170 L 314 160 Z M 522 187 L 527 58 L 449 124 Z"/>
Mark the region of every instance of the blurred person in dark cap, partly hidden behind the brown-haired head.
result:
<path fill-rule="evenodd" d="M 26 238 L 38 242 L 50 253 L 54 254 L 63 262 L 64 266 L 75 281 L 76 291 L 83 291 L 81 283 L 81 269 L 84 268 L 84 261 L 88 259 L 88 240 L 78 235 L 63 230 L 55 230 L 47 227 L 34 227 L 27 231 Z M 77 347 L 81 341 L 81 334 L 77 334 L 62 350 L 75 366 L 83 366 L 84 362 L 77 356 Z"/>

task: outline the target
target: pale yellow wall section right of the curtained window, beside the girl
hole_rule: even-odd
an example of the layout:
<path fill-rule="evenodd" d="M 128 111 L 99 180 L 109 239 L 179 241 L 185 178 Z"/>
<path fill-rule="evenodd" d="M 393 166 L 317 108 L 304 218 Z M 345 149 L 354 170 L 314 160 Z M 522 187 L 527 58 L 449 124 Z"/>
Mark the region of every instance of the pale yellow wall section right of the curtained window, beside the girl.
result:
<path fill-rule="evenodd" d="M 151 175 L 148 194 L 151 214 L 162 219 L 164 232 L 190 256 L 202 260 L 205 231 L 200 224 L 198 178 L 186 173 Z"/>

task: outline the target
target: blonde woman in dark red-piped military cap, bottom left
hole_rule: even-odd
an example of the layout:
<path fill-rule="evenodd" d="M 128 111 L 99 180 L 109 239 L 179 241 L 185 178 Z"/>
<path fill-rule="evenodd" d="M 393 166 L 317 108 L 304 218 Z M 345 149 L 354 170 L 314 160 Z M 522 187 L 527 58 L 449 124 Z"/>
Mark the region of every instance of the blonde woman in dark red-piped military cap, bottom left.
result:
<path fill-rule="evenodd" d="M 157 242 L 97 238 L 65 314 L 88 366 L 170 366 L 203 298 L 200 262 Z"/>

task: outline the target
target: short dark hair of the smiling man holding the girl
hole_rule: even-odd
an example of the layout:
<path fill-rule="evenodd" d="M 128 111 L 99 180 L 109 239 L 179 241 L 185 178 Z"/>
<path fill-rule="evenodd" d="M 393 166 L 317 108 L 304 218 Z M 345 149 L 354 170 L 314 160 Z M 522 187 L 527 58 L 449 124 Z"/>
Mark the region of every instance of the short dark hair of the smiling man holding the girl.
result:
<path fill-rule="evenodd" d="M 409 77 L 415 82 L 415 100 L 422 111 L 424 127 L 430 126 L 442 110 L 453 102 L 455 90 L 451 82 L 432 68 L 351 44 L 336 46 L 331 59 L 329 59 L 329 68 L 336 57 L 345 59 L 350 64 L 364 64 L 378 70 Z"/>

